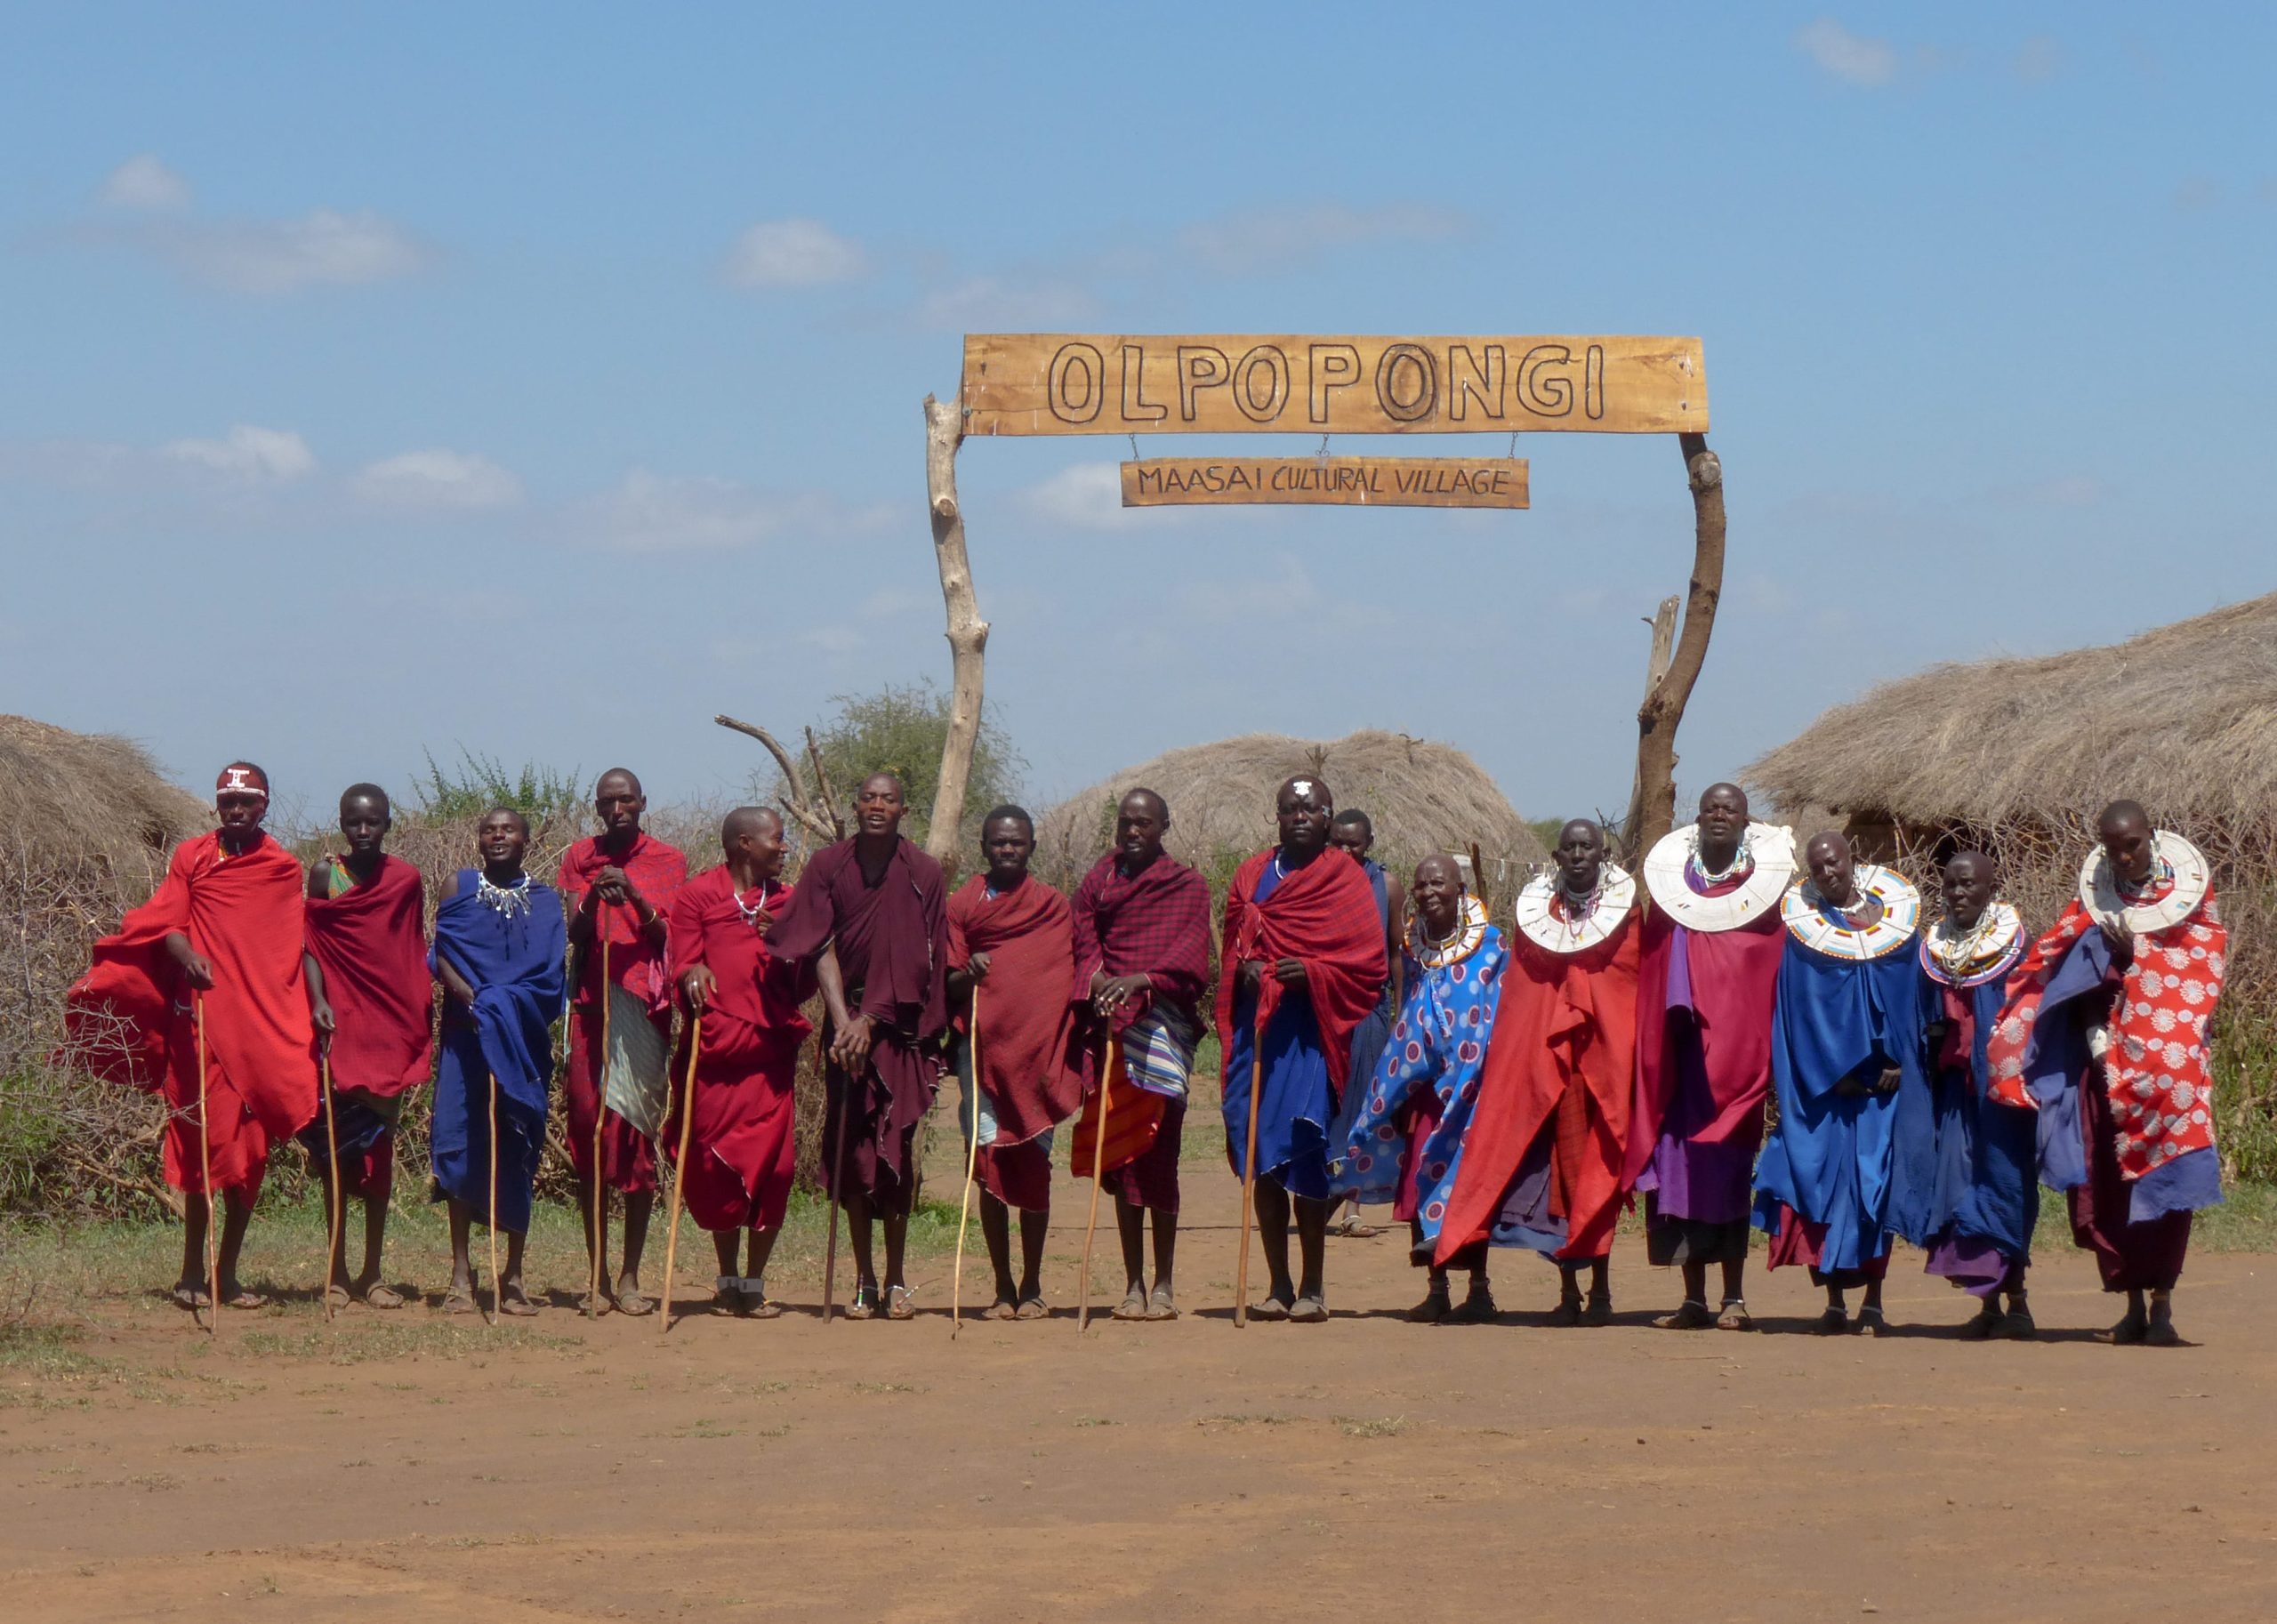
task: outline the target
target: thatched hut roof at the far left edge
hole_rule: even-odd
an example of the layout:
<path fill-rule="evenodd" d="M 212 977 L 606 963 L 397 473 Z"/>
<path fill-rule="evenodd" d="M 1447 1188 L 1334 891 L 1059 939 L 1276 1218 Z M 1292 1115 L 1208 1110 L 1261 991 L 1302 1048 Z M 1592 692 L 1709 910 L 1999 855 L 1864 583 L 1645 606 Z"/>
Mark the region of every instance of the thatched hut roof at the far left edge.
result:
<path fill-rule="evenodd" d="M 132 886 L 209 822 L 139 745 L 0 715 L 0 852 L 34 868 L 100 859 Z"/>

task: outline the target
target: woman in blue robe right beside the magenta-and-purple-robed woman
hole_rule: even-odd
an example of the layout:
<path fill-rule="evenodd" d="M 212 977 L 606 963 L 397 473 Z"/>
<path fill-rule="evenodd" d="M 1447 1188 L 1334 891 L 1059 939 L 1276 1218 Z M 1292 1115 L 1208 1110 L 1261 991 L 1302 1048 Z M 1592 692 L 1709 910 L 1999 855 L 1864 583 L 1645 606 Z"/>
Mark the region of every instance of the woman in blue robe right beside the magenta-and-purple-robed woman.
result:
<path fill-rule="evenodd" d="M 1819 1335 L 1890 1335 L 1890 1168 L 1899 1093 L 1929 1098 L 1922 1071 L 1920 893 L 1860 866 L 1840 834 L 1803 847 L 1810 879 L 1781 897 L 1787 950 L 1772 1014 L 1778 1125 L 1756 1168 L 1756 1221 L 1772 1269 L 1808 1264 L 1826 1289 Z M 1851 1321 L 1842 1294 L 1865 1287 Z"/>

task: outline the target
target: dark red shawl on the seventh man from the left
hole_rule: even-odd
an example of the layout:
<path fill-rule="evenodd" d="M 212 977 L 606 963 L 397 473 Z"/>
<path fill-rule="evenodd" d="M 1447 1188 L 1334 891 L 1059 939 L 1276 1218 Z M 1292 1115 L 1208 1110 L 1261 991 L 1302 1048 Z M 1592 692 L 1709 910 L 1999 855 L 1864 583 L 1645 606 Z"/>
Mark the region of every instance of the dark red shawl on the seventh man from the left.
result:
<path fill-rule="evenodd" d="M 1020 1146 L 1075 1116 L 1086 1066 L 1075 1018 L 1075 913 L 1052 886 L 1025 879 L 1000 897 L 975 875 L 950 897 L 950 968 L 988 954 L 979 984 L 981 1091 L 997 1146 Z M 952 1016 L 959 1032 L 968 1011 Z"/>

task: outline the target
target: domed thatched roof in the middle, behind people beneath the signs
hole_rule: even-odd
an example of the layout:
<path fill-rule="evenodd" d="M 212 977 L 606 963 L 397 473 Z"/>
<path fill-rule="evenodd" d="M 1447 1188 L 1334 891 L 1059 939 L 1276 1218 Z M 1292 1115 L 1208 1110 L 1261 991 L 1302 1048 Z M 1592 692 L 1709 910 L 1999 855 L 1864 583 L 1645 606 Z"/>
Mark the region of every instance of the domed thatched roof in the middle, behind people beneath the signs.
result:
<path fill-rule="evenodd" d="M 1070 795 L 1036 820 L 1043 854 L 1079 872 L 1107 850 L 1116 802 L 1150 788 L 1170 804 L 1166 847 L 1184 863 L 1273 843 L 1273 790 L 1300 772 L 1318 774 L 1339 811 L 1357 806 L 1375 825 L 1375 854 L 1414 863 L 1462 852 L 1473 840 L 1489 863 L 1546 863 L 1542 840 L 1471 756 L 1405 733 L 1348 733 L 1316 745 L 1282 733 L 1243 733 L 1189 745 L 1116 772 Z"/>

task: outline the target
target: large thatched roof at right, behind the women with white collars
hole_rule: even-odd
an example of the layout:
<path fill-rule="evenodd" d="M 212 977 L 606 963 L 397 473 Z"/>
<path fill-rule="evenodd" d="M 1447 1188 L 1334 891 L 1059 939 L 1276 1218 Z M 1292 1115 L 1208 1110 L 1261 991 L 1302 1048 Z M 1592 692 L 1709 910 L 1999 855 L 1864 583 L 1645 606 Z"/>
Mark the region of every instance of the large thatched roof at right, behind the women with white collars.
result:
<path fill-rule="evenodd" d="M 1746 770 L 1778 806 L 1997 829 L 2143 802 L 2177 829 L 2277 822 L 2277 592 L 2104 649 L 1933 665 Z"/>

